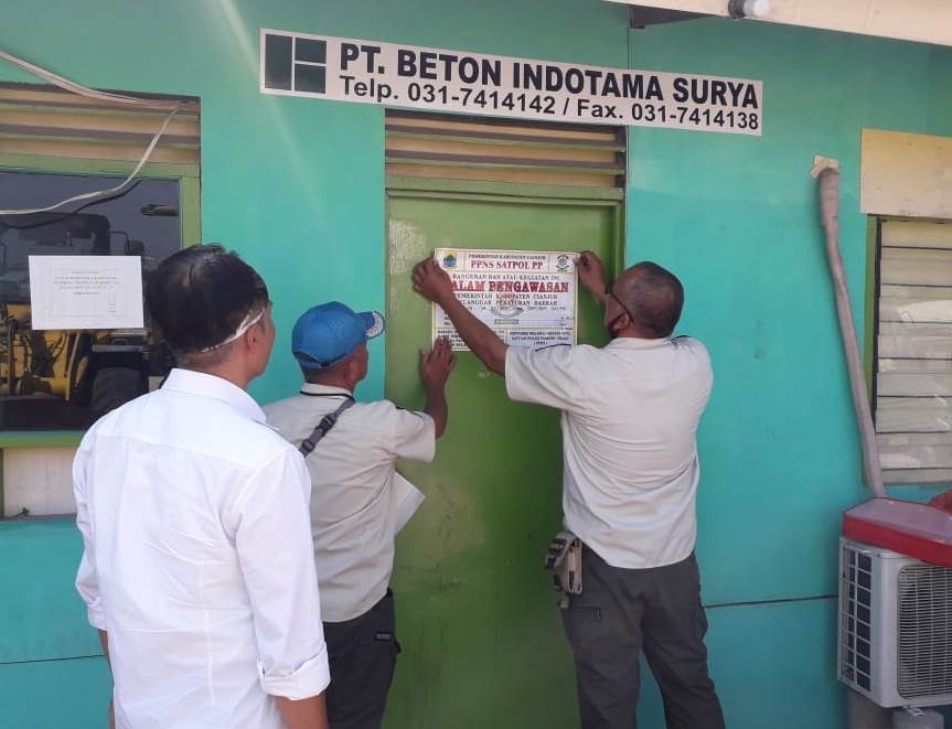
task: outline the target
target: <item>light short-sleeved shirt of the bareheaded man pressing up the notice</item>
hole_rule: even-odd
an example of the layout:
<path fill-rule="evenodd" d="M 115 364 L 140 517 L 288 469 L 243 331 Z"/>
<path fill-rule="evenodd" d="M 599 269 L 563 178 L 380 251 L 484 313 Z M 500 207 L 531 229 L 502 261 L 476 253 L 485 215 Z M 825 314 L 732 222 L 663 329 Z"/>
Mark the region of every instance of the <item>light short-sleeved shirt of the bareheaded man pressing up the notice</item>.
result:
<path fill-rule="evenodd" d="M 707 350 L 685 336 L 509 349 L 509 396 L 563 411 L 565 526 L 609 565 L 662 567 L 694 549 L 713 379 Z"/>

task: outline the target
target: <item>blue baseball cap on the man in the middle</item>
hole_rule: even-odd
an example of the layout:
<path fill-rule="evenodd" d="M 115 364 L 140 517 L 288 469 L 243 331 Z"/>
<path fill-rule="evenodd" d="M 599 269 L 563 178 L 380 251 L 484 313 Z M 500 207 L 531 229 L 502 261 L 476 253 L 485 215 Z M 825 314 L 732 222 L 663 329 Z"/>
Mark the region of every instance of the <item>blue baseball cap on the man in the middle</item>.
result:
<path fill-rule="evenodd" d="M 356 313 L 340 301 L 330 301 L 300 315 L 291 333 L 291 352 L 306 369 L 327 369 L 383 334 L 386 325 L 377 311 Z"/>

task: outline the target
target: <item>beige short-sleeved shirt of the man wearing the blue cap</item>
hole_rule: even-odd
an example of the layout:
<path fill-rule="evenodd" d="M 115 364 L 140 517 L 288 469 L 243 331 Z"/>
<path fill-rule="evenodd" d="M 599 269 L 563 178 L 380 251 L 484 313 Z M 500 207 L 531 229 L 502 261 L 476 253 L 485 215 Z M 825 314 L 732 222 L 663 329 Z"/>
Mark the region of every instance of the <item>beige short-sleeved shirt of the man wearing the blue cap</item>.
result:
<path fill-rule="evenodd" d="M 299 395 L 265 406 L 265 414 L 299 446 L 350 397 L 345 389 L 304 384 Z M 435 452 L 432 418 L 376 400 L 345 410 L 308 455 L 321 614 L 328 622 L 357 618 L 386 594 L 397 532 L 396 461 L 429 462 Z"/>

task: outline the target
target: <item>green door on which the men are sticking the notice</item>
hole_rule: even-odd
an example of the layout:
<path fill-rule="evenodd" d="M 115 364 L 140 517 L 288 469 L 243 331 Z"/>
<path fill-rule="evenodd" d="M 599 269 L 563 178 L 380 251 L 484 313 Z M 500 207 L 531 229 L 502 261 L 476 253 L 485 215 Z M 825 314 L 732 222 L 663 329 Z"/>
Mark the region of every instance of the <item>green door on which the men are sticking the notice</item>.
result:
<path fill-rule="evenodd" d="M 429 304 L 410 288 L 434 248 L 579 250 L 619 262 L 617 201 L 388 191 L 387 397 L 419 407 Z M 601 311 L 579 294 L 579 340 L 601 343 Z M 561 518 L 558 414 L 511 403 L 469 353 L 449 387 L 450 425 L 432 464 L 402 464 L 427 495 L 397 543 L 403 653 L 388 729 L 576 727 L 571 654 L 543 557 Z"/>

